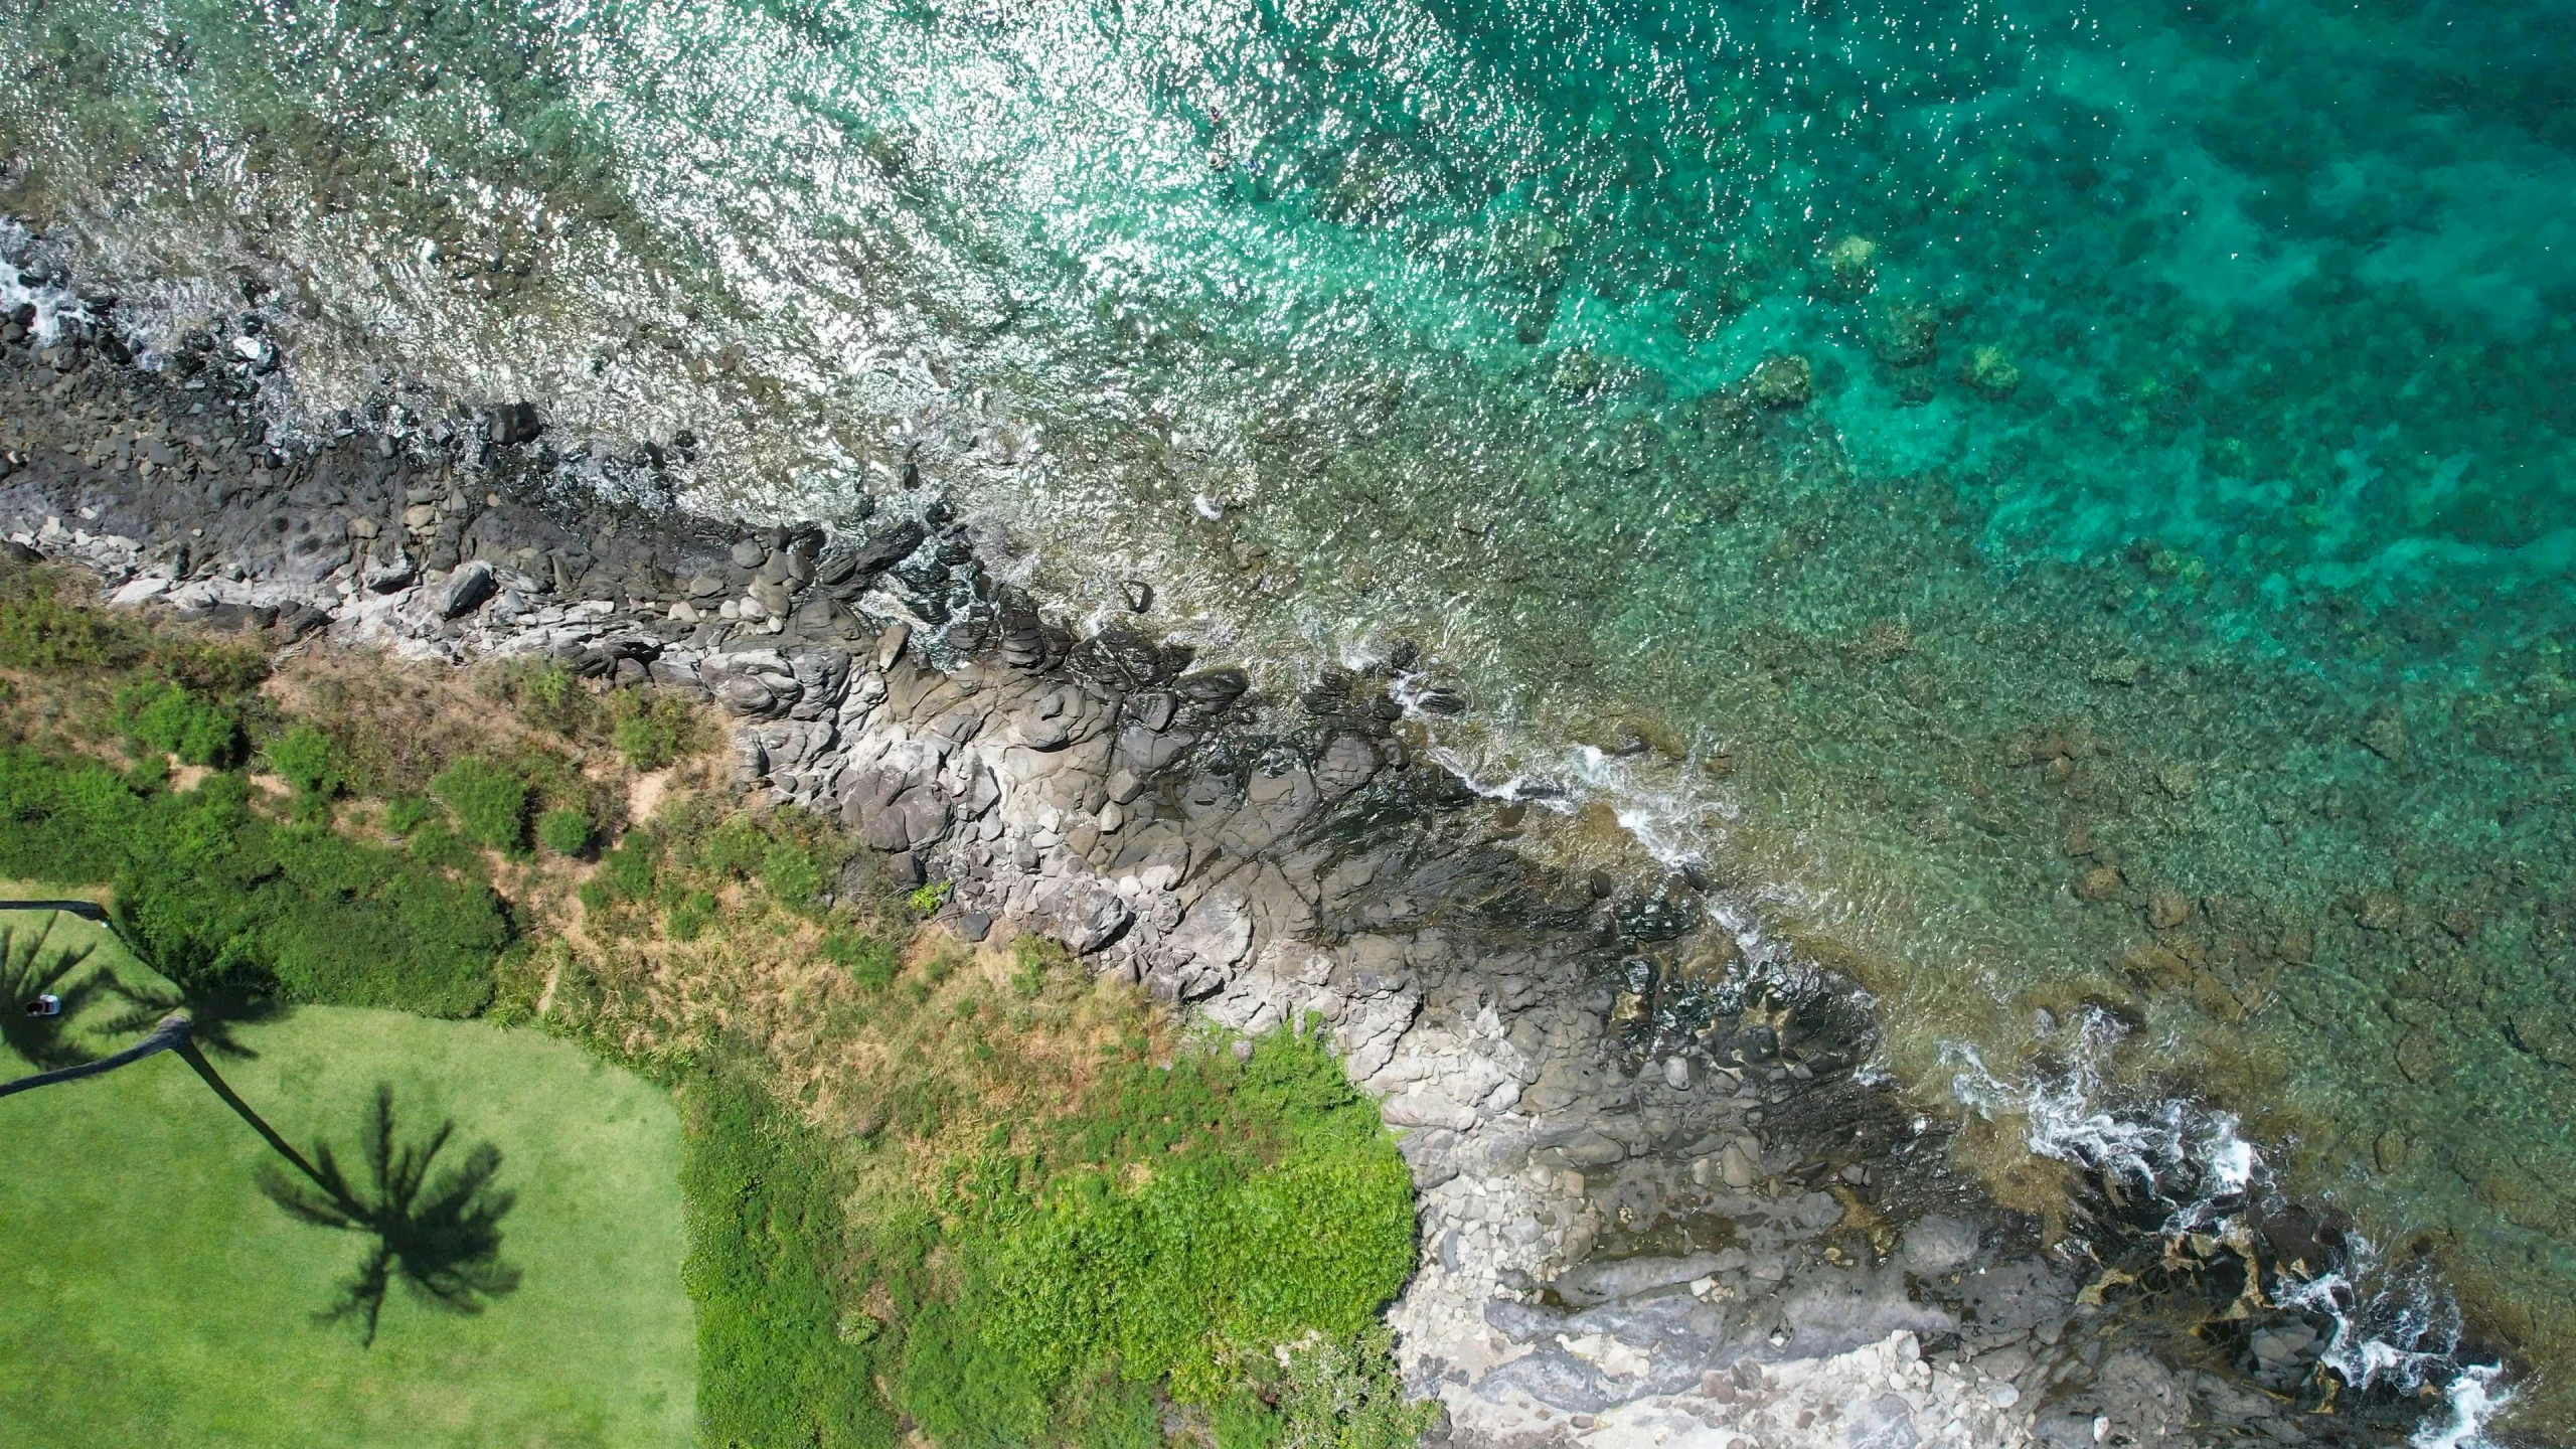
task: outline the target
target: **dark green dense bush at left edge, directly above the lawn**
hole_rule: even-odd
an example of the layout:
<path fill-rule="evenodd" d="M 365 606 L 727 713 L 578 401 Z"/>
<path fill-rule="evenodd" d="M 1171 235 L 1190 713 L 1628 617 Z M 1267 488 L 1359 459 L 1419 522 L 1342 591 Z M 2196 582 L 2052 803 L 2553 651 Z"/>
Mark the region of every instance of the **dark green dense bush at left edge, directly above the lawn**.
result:
<path fill-rule="evenodd" d="M 0 874 L 113 884 L 124 933 L 183 985 L 471 1016 L 510 926 L 474 879 L 250 810 L 240 773 L 170 792 L 0 750 Z"/>

